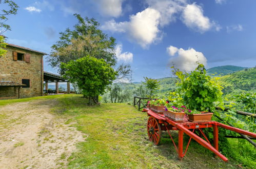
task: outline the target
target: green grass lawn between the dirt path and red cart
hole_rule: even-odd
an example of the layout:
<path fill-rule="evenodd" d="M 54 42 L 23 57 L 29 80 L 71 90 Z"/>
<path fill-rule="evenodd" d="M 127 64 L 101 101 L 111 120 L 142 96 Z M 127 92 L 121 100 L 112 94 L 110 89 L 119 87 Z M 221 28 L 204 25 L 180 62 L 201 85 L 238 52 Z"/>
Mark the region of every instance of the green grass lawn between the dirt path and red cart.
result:
<path fill-rule="evenodd" d="M 77 130 L 88 135 L 86 141 L 78 143 L 78 150 L 68 158 L 68 168 L 238 167 L 238 163 L 232 160 L 225 163 L 215 158 L 211 152 L 194 141 L 191 142 L 185 158 L 178 160 L 169 136 L 164 133 L 162 144 L 153 145 L 147 136 L 147 114 L 125 103 L 103 103 L 89 107 L 82 95 L 70 94 L 2 100 L 0 105 L 42 98 L 57 99 L 58 104 L 52 108 L 52 113 L 66 118 L 66 124 L 76 126 Z M 177 142 L 178 134 L 174 131 L 172 134 Z"/>

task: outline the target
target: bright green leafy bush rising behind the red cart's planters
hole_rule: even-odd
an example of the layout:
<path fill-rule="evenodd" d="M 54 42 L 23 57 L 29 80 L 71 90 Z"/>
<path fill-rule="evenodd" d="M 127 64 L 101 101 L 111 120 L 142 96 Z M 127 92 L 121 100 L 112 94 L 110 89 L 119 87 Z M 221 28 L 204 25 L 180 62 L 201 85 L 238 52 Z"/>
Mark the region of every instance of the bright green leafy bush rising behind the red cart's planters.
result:
<path fill-rule="evenodd" d="M 199 64 L 199 67 L 204 67 L 204 65 Z M 219 106 L 222 107 L 223 93 L 221 90 L 223 88 L 217 82 L 219 78 L 211 78 L 206 75 L 205 69 L 198 70 L 198 68 L 190 73 L 177 70 L 175 74 L 180 79 L 177 83 L 178 93 L 189 109 L 213 112 L 215 110 L 213 102 L 220 102 Z"/>

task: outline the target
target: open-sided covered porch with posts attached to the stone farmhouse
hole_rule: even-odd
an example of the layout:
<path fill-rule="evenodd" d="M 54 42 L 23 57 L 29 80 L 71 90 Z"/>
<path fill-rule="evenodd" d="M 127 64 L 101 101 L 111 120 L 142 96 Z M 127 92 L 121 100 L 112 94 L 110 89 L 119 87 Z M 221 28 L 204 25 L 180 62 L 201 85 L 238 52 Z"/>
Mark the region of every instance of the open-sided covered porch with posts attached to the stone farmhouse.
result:
<path fill-rule="evenodd" d="M 55 82 L 56 93 L 58 94 L 58 82 L 67 82 L 67 93 L 70 94 L 70 82 L 60 75 L 44 71 L 45 90 L 48 90 L 48 82 Z"/>

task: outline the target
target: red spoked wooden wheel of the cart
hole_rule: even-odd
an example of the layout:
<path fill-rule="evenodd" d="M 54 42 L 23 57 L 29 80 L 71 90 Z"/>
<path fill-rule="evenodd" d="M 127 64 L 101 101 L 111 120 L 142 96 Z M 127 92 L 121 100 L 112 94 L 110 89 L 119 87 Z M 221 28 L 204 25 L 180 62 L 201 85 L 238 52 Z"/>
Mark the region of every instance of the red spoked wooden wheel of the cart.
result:
<path fill-rule="evenodd" d="M 155 145 L 159 145 L 162 136 L 161 126 L 159 122 L 152 116 L 148 118 L 147 129 L 149 140 Z"/>

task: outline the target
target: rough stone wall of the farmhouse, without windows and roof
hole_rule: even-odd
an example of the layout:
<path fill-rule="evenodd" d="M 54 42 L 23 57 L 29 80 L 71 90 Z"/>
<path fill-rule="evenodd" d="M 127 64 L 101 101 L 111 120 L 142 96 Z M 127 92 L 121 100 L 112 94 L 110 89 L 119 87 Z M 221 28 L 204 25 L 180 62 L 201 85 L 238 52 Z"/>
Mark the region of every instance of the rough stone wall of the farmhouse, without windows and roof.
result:
<path fill-rule="evenodd" d="M 22 83 L 22 79 L 29 79 L 30 88 L 21 88 L 20 97 L 24 98 L 41 96 L 44 78 L 42 76 L 43 55 L 9 46 L 7 47 L 7 51 L 8 52 L 6 56 L 0 57 L 0 81 L 13 81 Z M 30 54 L 30 62 L 19 60 L 14 61 L 12 51 Z M 11 89 L 14 91 L 13 88 L 5 88 L 7 93 L 6 95 L 11 94 Z M 1 93 L 0 97 L 4 97 L 3 89 L 1 90 Z"/>

